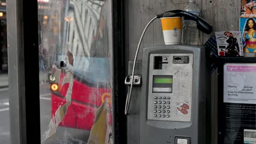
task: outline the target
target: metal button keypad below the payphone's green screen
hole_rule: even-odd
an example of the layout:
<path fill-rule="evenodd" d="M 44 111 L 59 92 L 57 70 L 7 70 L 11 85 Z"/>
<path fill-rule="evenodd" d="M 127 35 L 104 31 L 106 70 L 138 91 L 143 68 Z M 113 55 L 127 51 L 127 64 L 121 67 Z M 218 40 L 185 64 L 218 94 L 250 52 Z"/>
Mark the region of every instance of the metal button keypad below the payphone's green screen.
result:
<path fill-rule="evenodd" d="M 163 117 L 163 118 L 169 118 L 170 115 L 170 97 L 154 97 L 154 117 Z M 159 114 L 157 114 L 159 113 Z"/>

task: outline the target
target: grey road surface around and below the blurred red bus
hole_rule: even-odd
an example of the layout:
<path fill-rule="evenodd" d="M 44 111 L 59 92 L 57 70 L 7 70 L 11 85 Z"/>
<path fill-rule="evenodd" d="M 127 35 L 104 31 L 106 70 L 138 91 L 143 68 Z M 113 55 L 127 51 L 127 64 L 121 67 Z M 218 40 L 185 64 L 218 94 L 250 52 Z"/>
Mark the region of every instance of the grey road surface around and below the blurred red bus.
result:
<path fill-rule="evenodd" d="M 84 144 L 90 131 L 58 127 L 54 139 L 43 140 L 51 119 L 51 93 L 46 74 L 40 74 L 40 127 L 42 144 Z M 0 74 L 0 144 L 9 144 L 9 88 L 8 75 Z M 82 141 L 83 140 L 83 141 Z"/>

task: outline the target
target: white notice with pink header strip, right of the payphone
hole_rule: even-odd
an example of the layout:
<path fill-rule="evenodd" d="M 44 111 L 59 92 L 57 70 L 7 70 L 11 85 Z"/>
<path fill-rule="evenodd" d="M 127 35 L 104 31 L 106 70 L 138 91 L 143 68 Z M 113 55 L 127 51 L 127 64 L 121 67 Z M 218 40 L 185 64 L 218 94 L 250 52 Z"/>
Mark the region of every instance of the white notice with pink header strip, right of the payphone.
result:
<path fill-rule="evenodd" d="M 256 64 L 224 65 L 224 103 L 256 104 Z"/>

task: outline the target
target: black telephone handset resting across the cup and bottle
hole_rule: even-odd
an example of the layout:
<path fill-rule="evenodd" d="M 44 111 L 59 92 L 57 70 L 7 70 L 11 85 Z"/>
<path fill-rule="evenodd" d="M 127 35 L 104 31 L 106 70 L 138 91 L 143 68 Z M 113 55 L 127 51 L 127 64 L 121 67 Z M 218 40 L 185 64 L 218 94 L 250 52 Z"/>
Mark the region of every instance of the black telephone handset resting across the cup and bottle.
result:
<path fill-rule="evenodd" d="M 206 34 L 210 34 L 212 32 L 212 26 L 209 25 L 209 23 L 207 23 L 205 20 L 202 19 L 202 17 L 199 17 L 195 14 L 189 13 L 188 11 L 184 11 L 184 10 L 171 10 L 171 11 L 166 11 L 165 13 L 162 14 L 158 14 L 157 17 L 161 18 L 161 17 L 175 17 L 175 16 L 183 16 L 186 17 L 190 20 L 194 20 L 197 23 L 197 28 L 206 33 Z"/>

